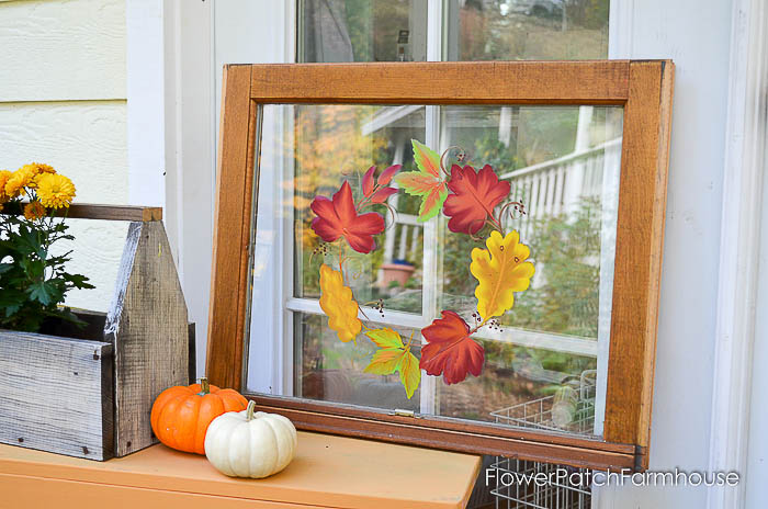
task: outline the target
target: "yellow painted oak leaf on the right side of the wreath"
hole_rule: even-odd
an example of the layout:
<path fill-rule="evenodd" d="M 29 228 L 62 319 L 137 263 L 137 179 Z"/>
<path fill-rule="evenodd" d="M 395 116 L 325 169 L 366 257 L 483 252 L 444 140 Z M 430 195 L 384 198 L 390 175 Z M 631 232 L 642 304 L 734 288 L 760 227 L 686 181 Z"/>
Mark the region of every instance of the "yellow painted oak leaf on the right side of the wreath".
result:
<path fill-rule="evenodd" d="M 520 244 L 517 231 L 501 237 L 492 231 L 485 241 L 487 249 L 472 250 L 470 271 L 478 285 L 475 289 L 477 312 L 483 319 L 500 316 L 515 305 L 515 292 L 522 292 L 531 284 L 533 263 L 526 261 L 530 249 Z"/>

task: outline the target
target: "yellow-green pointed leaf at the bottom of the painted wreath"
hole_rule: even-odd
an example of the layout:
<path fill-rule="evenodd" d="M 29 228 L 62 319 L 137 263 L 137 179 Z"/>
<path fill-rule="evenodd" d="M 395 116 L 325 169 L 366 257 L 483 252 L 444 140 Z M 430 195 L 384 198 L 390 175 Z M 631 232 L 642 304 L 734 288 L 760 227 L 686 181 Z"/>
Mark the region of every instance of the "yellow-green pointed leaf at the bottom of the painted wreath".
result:
<path fill-rule="evenodd" d="M 398 371 L 405 394 L 410 399 L 421 383 L 419 360 L 410 353 L 413 338 L 408 344 L 403 344 L 400 335 L 386 327 L 369 330 L 365 336 L 371 338 L 380 350 L 373 354 L 371 363 L 363 371 L 376 375 L 389 375 Z"/>

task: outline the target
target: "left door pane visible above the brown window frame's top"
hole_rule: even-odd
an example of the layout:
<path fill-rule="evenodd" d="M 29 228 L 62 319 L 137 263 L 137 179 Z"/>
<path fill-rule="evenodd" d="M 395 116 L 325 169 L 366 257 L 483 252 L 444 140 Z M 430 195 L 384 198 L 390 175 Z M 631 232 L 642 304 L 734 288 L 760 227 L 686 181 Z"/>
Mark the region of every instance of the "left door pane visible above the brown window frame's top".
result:
<path fill-rule="evenodd" d="M 302 0 L 300 61 L 427 59 L 422 0 Z"/>

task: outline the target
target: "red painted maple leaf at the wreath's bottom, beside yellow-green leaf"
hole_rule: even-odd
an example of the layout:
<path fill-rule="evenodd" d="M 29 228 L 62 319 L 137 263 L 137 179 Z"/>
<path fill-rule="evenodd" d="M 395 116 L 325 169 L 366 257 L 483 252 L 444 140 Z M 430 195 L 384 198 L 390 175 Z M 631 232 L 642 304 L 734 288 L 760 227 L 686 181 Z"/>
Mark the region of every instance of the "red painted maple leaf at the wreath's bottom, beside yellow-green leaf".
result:
<path fill-rule="evenodd" d="M 485 350 L 470 338 L 470 326 L 454 312 L 444 310 L 442 318 L 425 327 L 421 335 L 429 344 L 421 347 L 419 366 L 429 375 L 443 375 L 447 384 L 456 384 L 467 373 L 479 376 Z"/>

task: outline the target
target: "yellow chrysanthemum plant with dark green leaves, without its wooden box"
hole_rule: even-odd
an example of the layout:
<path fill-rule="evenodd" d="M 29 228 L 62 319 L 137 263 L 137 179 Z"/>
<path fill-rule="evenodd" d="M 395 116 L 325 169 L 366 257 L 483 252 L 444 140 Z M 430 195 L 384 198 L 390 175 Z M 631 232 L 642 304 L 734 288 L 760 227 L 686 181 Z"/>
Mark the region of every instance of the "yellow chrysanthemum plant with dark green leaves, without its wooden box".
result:
<path fill-rule="evenodd" d="M 61 214 L 74 197 L 72 181 L 48 165 L 0 171 L 0 328 L 36 332 L 52 323 L 83 325 L 61 303 L 70 290 L 93 286 L 67 272 L 69 253 L 52 249 L 74 238 Z"/>

